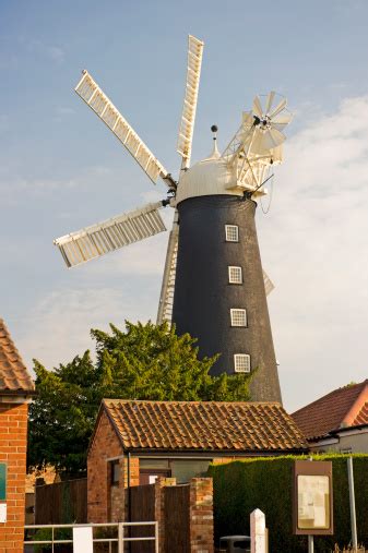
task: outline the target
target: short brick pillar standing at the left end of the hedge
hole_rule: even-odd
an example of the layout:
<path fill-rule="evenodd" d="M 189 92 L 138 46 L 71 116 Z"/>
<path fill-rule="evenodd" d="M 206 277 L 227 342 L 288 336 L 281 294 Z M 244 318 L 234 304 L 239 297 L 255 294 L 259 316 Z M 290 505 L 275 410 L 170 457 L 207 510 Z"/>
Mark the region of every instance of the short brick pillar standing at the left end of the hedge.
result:
<path fill-rule="evenodd" d="M 190 553 L 213 553 L 213 482 L 212 478 L 190 481 Z"/>

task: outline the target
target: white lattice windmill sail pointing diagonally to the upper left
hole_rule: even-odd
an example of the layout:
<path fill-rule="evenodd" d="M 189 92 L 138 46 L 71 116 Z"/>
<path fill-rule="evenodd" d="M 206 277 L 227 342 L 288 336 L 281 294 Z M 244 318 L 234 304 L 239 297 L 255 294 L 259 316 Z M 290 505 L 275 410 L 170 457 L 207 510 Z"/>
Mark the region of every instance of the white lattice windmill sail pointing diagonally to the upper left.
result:
<path fill-rule="evenodd" d="M 156 183 L 158 177 L 162 177 L 164 181 L 170 181 L 170 176 L 165 167 L 156 159 L 151 149 L 149 149 L 139 137 L 133 128 L 122 117 L 86 70 L 83 71 L 83 76 L 78 83 L 75 92 L 104 123 L 107 124 L 121 144 L 126 146 L 153 183 Z"/>

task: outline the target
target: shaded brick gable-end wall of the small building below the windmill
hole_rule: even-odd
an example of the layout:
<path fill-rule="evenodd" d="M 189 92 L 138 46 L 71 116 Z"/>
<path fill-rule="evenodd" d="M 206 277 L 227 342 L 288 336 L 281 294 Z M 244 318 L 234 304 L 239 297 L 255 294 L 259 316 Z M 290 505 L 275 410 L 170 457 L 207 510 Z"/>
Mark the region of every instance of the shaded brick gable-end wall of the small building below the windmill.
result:
<path fill-rule="evenodd" d="M 122 447 L 103 411 L 87 459 L 87 519 L 106 522 L 110 518 L 110 466 L 106 460 L 122 455 Z M 1 553 L 1 552 L 0 552 Z"/>

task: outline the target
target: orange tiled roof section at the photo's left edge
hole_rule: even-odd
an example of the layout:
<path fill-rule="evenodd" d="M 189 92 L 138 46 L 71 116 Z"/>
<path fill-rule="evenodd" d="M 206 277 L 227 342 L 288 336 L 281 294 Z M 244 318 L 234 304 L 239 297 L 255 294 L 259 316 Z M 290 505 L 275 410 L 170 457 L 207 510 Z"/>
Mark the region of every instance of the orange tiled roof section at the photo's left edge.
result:
<path fill-rule="evenodd" d="M 0 394 L 1 393 L 33 393 L 34 383 L 26 370 L 5 323 L 0 318 Z"/>

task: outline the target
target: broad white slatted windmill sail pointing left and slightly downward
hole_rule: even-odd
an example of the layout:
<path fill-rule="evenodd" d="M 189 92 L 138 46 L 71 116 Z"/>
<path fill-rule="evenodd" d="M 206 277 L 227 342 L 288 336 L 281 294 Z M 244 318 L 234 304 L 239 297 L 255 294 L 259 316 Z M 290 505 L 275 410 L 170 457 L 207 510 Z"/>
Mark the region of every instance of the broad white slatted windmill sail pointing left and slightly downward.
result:
<path fill-rule="evenodd" d="M 166 230 L 158 213 L 162 202 L 118 215 L 54 240 L 68 267 L 119 250 Z"/>

